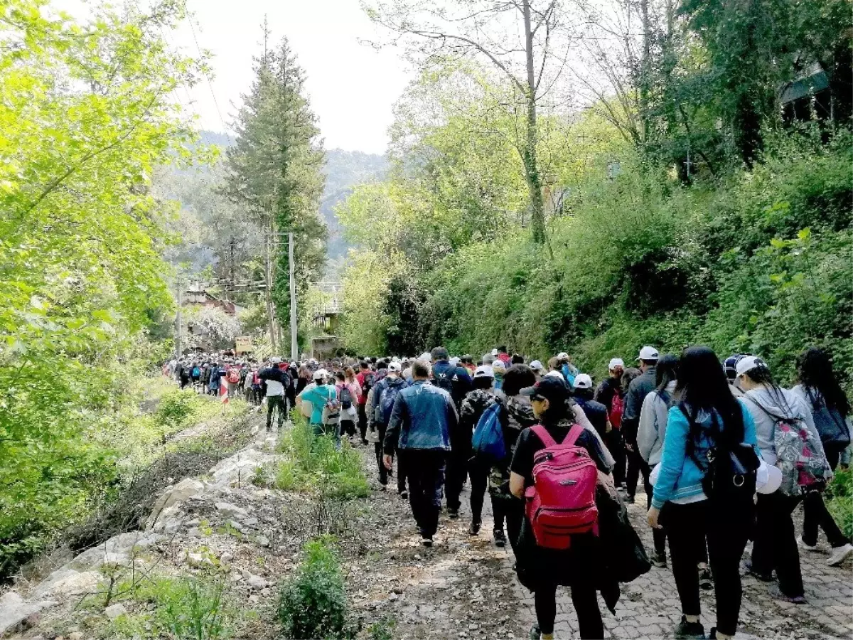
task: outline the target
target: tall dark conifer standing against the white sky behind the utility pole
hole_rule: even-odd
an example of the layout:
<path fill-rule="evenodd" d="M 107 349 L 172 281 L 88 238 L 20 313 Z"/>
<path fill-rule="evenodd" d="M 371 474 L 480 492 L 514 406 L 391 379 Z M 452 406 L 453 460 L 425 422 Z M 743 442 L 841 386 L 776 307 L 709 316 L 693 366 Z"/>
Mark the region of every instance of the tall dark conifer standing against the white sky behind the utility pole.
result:
<path fill-rule="evenodd" d="M 293 231 L 296 282 L 305 291 L 322 276 L 328 230 L 319 216 L 325 154 L 316 116 L 305 97 L 305 72 L 282 38 L 255 59 L 252 90 L 242 96 L 237 140 L 228 150 L 229 196 L 253 212 L 264 229 L 270 340 L 290 314 L 287 232 Z M 274 318 L 278 318 L 278 323 Z"/>

